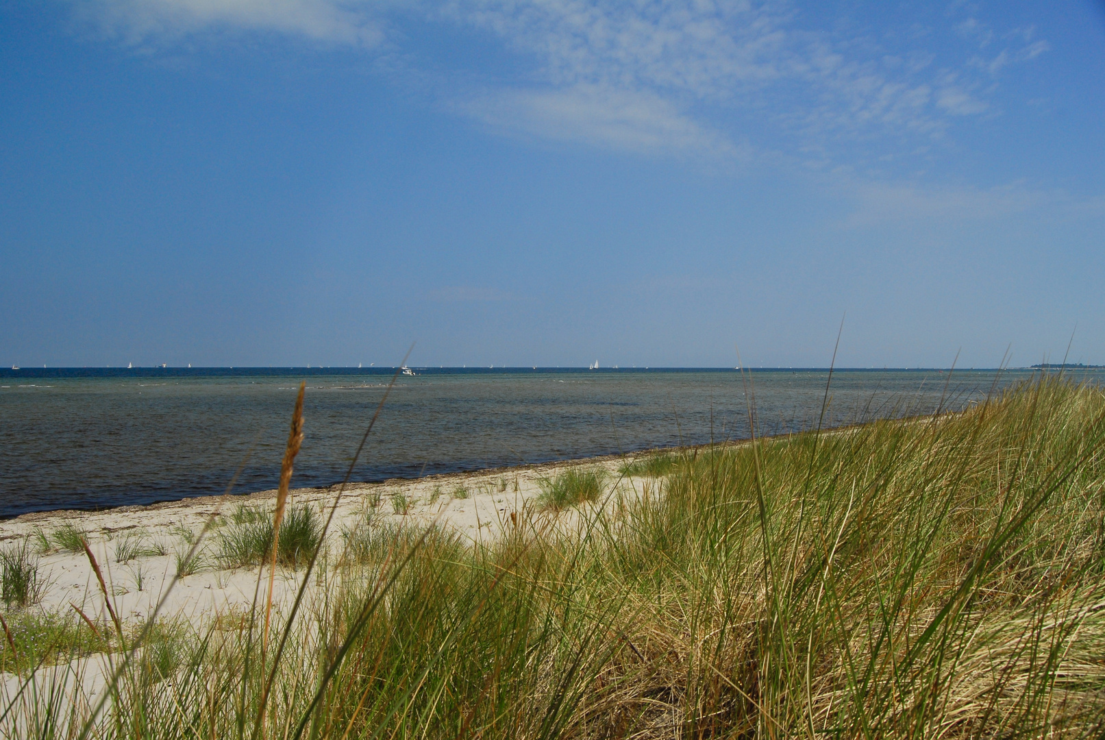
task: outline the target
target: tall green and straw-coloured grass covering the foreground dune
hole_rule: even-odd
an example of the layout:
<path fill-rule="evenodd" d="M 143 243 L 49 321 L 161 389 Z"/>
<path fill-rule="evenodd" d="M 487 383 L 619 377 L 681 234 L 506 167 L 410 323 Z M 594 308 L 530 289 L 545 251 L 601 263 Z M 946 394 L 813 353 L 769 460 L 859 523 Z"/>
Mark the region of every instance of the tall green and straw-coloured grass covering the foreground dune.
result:
<path fill-rule="evenodd" d="M 681 456 L 570 533 L 367 533 L 277 615 L 275 665 L 262 615 L 222 621 L 139 651 L 95 717 L 9 696 L 0 734 L 1099 737 L 1103 442 L 1101 390 L 1044 377 Z"/>

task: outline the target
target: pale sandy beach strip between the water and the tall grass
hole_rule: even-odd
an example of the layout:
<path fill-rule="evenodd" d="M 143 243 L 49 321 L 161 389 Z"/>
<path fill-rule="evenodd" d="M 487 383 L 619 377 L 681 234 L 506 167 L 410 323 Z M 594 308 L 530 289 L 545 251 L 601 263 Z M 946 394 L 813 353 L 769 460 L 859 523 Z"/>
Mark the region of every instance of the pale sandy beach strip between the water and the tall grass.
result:
<path fill-rule="evenodd" d="M 357 527 L 424 527 L 432 524 L 450 528 L 472 542 L 488 541 L 522 515 L 540 516 L 534 499 L 541 493 L 541 480 L 571 467 L 603 468 L 611 489 L 617 486 L 623 494 L 634 495 L 645 482 L 619 478 L 618 468 L 624 462 L 624 457 L 608 456 L 414 480 L 350 484 L 340 495 L 324 545 L 332 551 L 339 551 L 344 533 Z M 290 503 L 313 507 L 325 518 L 338 499 L 339 488 L 293 489 Z M 75 606 L 94 621 L 106 623 L 109 614 L 87 556 L 53 545 L 59 531 L 75 529 L 82 532 L 101 565 L 115 613 L 124 623 L 137 626 L 154 614 L 158 601 L 172 585 L 178 563 L 204 526 L 213 521 L 214 526 L 198 547 L 194 572 L 172 585 L 158 614 L 159 619 L 182 617 L 197 624 L 249 609 L 254 602 L 257 567 L 224 568 L 218 553 L 218 533 L 220 525 L 225 526 L 241 507 L 271 516 L 275 496 L 275 490 L 262 490 L 249 496 L 187 498 L 102 511 L 27 514 L 0 522 L 0 547 L 27 540 L 40 550 L 40 572 L 46 585 L 33 609 L 51 611 Z M 559 517 L 561 524 L 569 520 L 571 515 L 568 512 Z M 43 538 L 51 542 L 49 549 Z M 278 605 L 288 595 L 294 595 L 301 575 L 295 569 L 277 568 L 274 603 Z"/>

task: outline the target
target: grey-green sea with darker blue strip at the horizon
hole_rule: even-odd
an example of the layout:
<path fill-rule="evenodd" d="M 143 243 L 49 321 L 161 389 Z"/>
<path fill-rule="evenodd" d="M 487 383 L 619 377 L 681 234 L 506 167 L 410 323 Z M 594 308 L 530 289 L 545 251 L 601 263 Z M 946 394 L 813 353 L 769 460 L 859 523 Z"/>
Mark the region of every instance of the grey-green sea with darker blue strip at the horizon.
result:
<path fill-rule="evenodd" d="M 747 437 L 734 370 L 419 370 L 400 377 L 355 480 Z M 1098 373 L 1090 373 L 1096 376 Z M 1105 376 L 1105 373 L 1101 373 Z M 382 369 L 0 371 L 0 517 L 276 486 L 299 380 L 295 486 L 339 482 Z M 836 370 L 828 425 L 960 409 L 1028 371 Z M 827 370 L 750 373 L 759 431 L 815 425 Z"/>

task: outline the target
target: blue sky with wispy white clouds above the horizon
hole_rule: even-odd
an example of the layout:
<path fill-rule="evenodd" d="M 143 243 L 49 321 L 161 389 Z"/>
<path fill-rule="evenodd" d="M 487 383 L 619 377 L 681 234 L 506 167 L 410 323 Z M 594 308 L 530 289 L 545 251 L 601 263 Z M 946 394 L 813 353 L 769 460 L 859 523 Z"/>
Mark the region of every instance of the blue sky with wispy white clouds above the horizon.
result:
<path fill-rule="evenodd" d="M 1105 363 L 1105 8 L 0 2 L 0 362 Z"/>

